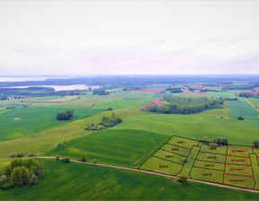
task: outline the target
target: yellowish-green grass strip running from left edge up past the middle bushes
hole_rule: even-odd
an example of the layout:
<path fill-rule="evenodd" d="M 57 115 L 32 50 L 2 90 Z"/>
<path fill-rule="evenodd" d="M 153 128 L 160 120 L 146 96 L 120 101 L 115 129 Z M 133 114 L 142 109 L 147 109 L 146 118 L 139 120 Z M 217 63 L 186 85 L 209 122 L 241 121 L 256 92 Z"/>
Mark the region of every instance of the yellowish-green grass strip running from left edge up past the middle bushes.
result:
<path fill-rule="evenodd" d="M 112 112 L 118 114 L 123 120 L 132 116 L 143 115 L 142 112 L 131 109 L 105 111 L 92 117 L 77 119 L 59 125 L 58 127 L 44 129 L 38 133 L 0 142 L 0 158 L 9 157 L 12 153 L 47 153 L 58 144 L 63 144 L 65 141 L 76 137 L 91 134 L 92 131 L 86 131 L 85 126 L 92 122 L 101 122 L 103 115 L 110 115 Z"/>

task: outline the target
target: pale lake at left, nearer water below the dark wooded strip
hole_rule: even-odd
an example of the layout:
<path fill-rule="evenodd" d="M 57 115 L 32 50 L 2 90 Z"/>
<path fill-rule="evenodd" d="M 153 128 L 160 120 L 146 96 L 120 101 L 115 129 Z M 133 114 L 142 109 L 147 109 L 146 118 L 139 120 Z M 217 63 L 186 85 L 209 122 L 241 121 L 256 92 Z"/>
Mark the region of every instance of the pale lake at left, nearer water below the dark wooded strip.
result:
<path fill-rule="evenodd" d="M 58 91 L 71 91 L 71 90 L 88 90 L 89 87 L 92 89 L 102 88 L 101 86 L 87 86 L 85 84 L 72 84 L 72 85 L 27 85 L 27 86 L 10 86 L 10 87 L 0 87 L 0 88 L 28 88 L 28 87 L 51 87 L 54 88 L 56 92 Z"/>

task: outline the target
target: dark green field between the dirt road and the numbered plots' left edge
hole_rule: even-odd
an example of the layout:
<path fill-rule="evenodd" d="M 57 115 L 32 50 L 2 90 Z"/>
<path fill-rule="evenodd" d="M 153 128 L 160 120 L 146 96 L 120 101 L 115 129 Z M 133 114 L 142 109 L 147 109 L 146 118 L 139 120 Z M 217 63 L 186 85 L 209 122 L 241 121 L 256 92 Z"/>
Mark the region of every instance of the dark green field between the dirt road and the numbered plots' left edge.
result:
<path fill-rule="evenodd" d="M 136 168 L 167 138 L 167 135 L 141 130 L 103 130 L 68 141 L 46 155 L 69 156 L 80 160 L 85 154 L 90 162 L 96 160 Z"/>

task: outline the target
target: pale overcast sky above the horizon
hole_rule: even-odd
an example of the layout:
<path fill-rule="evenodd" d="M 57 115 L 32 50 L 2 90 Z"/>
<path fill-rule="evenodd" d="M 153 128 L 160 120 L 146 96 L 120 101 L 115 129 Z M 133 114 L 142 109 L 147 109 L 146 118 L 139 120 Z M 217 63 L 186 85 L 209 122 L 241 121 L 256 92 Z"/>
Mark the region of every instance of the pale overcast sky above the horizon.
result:
<path fill-rule="evenodd" d="M 259 1 L 0 1 L 0 75 L 259 74 Z"/>

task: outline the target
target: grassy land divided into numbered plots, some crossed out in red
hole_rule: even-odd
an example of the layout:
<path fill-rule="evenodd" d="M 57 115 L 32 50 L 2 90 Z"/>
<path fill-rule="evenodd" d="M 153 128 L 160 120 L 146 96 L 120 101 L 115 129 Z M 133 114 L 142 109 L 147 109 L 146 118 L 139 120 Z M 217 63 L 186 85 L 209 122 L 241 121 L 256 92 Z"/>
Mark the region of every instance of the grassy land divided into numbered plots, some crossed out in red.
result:
<path fill-rule="evenodd" d="M 173 136 L 138 169 L 259 190 L 259 149 Z"/>

